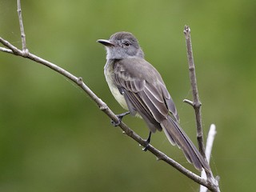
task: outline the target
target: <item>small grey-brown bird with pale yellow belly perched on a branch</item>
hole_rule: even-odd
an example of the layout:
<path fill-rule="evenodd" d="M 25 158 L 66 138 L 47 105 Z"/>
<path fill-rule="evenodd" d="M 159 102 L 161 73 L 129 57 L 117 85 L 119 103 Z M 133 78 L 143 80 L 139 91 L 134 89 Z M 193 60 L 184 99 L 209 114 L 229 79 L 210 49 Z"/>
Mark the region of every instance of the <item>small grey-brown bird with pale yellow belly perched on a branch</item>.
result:
<path fill-rule="evenodd" d="M 137 38 L 130 32 L 112 34 L 97 42 L 106 47 L 106 82 L 117 102 L 133 116 L 142 118 L 151 133 L 163 130 L 172 145 L 182 149 L 188 162 L 197 170 L 210 170 L 208 162 L 179 125 L 173 99 L 161 74 L 147 62 Z"/>

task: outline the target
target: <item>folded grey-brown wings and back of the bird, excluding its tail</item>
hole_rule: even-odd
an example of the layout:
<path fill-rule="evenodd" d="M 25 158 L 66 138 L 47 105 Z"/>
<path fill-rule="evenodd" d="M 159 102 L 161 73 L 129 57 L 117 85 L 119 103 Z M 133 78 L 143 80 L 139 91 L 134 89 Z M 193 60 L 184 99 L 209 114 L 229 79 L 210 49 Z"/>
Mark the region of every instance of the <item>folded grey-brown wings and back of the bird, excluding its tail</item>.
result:
<path fill-rule="evenodd" d="M 174 102 L 158 71 L 142 58 L 122 59 L 114 64 L 114 83 L 126 99 L 131 114 L 140 114 L 151 131 L 169 112 L 178 119 Z"/>

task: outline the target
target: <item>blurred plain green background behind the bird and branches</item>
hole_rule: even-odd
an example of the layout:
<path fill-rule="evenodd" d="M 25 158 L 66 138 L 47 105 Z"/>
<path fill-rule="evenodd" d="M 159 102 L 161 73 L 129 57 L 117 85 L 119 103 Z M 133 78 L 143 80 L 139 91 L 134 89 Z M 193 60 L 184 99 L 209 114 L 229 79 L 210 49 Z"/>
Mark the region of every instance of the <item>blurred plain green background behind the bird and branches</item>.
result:
<path fill-rule="evenodd" d="M 255 183 L 256 3 L 235 1 L 22 1 L 31 53 L 81 76 L 115 113 L 98 38 L 130 31 L 162 74 L 196 143 L 183 27 L 192 30 L 202 122 L 218 134 L 211 167 L 222 191 Z M 0 0 L 0 36 L 21 47 L 15 1 Z M 198 191 L 198 184 L 110 125 L 77 86 L 25 58 L 0 53 L 0 191 Z M 141 119 L 124 122 L 147 137 Z M 195 171 L 163 133 L 152 144 Z"/>

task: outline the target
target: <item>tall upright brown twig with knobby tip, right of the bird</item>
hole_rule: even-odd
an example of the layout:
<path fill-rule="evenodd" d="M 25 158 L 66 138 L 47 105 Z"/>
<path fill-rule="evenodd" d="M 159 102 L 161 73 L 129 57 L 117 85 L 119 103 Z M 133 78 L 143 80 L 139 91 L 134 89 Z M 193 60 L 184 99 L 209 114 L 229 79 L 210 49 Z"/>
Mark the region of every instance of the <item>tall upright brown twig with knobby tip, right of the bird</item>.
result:
<path fill-rule="evenodd" d="M 196 122 L 197 122 L 198 147 L 199 147 L 200 153 L 202 154 L 202 157 L 206 158 L 205 146 L 203 143 L 203 133 L 202 133 L 202 114 L 201 114 L 202 103 L 199 101 L 199 96 L 198 96 L 198 86 L 197 86 L 197 80 L 196 80 L 196 74 L 195 74 L 195 66 L 194 66 L 194 58 L 192 53 L 192 44 L 191 44 L 189 26 L 185 26 L 184 34 L 186 38 L 187 58 L 188 58 L 189 69 L 190 69 L 190 83 L 191 83 L 192 93 L 193 93 L 193 106 L 194 106 Z"/>

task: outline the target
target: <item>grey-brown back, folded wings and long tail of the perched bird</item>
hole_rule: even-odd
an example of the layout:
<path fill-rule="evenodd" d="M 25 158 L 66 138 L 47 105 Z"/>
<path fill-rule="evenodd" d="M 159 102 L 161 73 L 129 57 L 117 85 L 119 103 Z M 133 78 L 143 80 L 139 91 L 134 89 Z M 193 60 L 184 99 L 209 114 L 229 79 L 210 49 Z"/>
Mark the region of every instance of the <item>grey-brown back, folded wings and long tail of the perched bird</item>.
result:
<path fill-rule="evenodd" d="M 198 170 L 202 167 L 209 170 L 207 162 L 178 125 L 177 110 L 158 71 L 142 58 L 115 62 L 113 71 L 114 83 L 126 99 L 130 113 L 138 112 L 152 132 L 163 129 L 169 141 L 182 148 L 186 159 Z"/>

